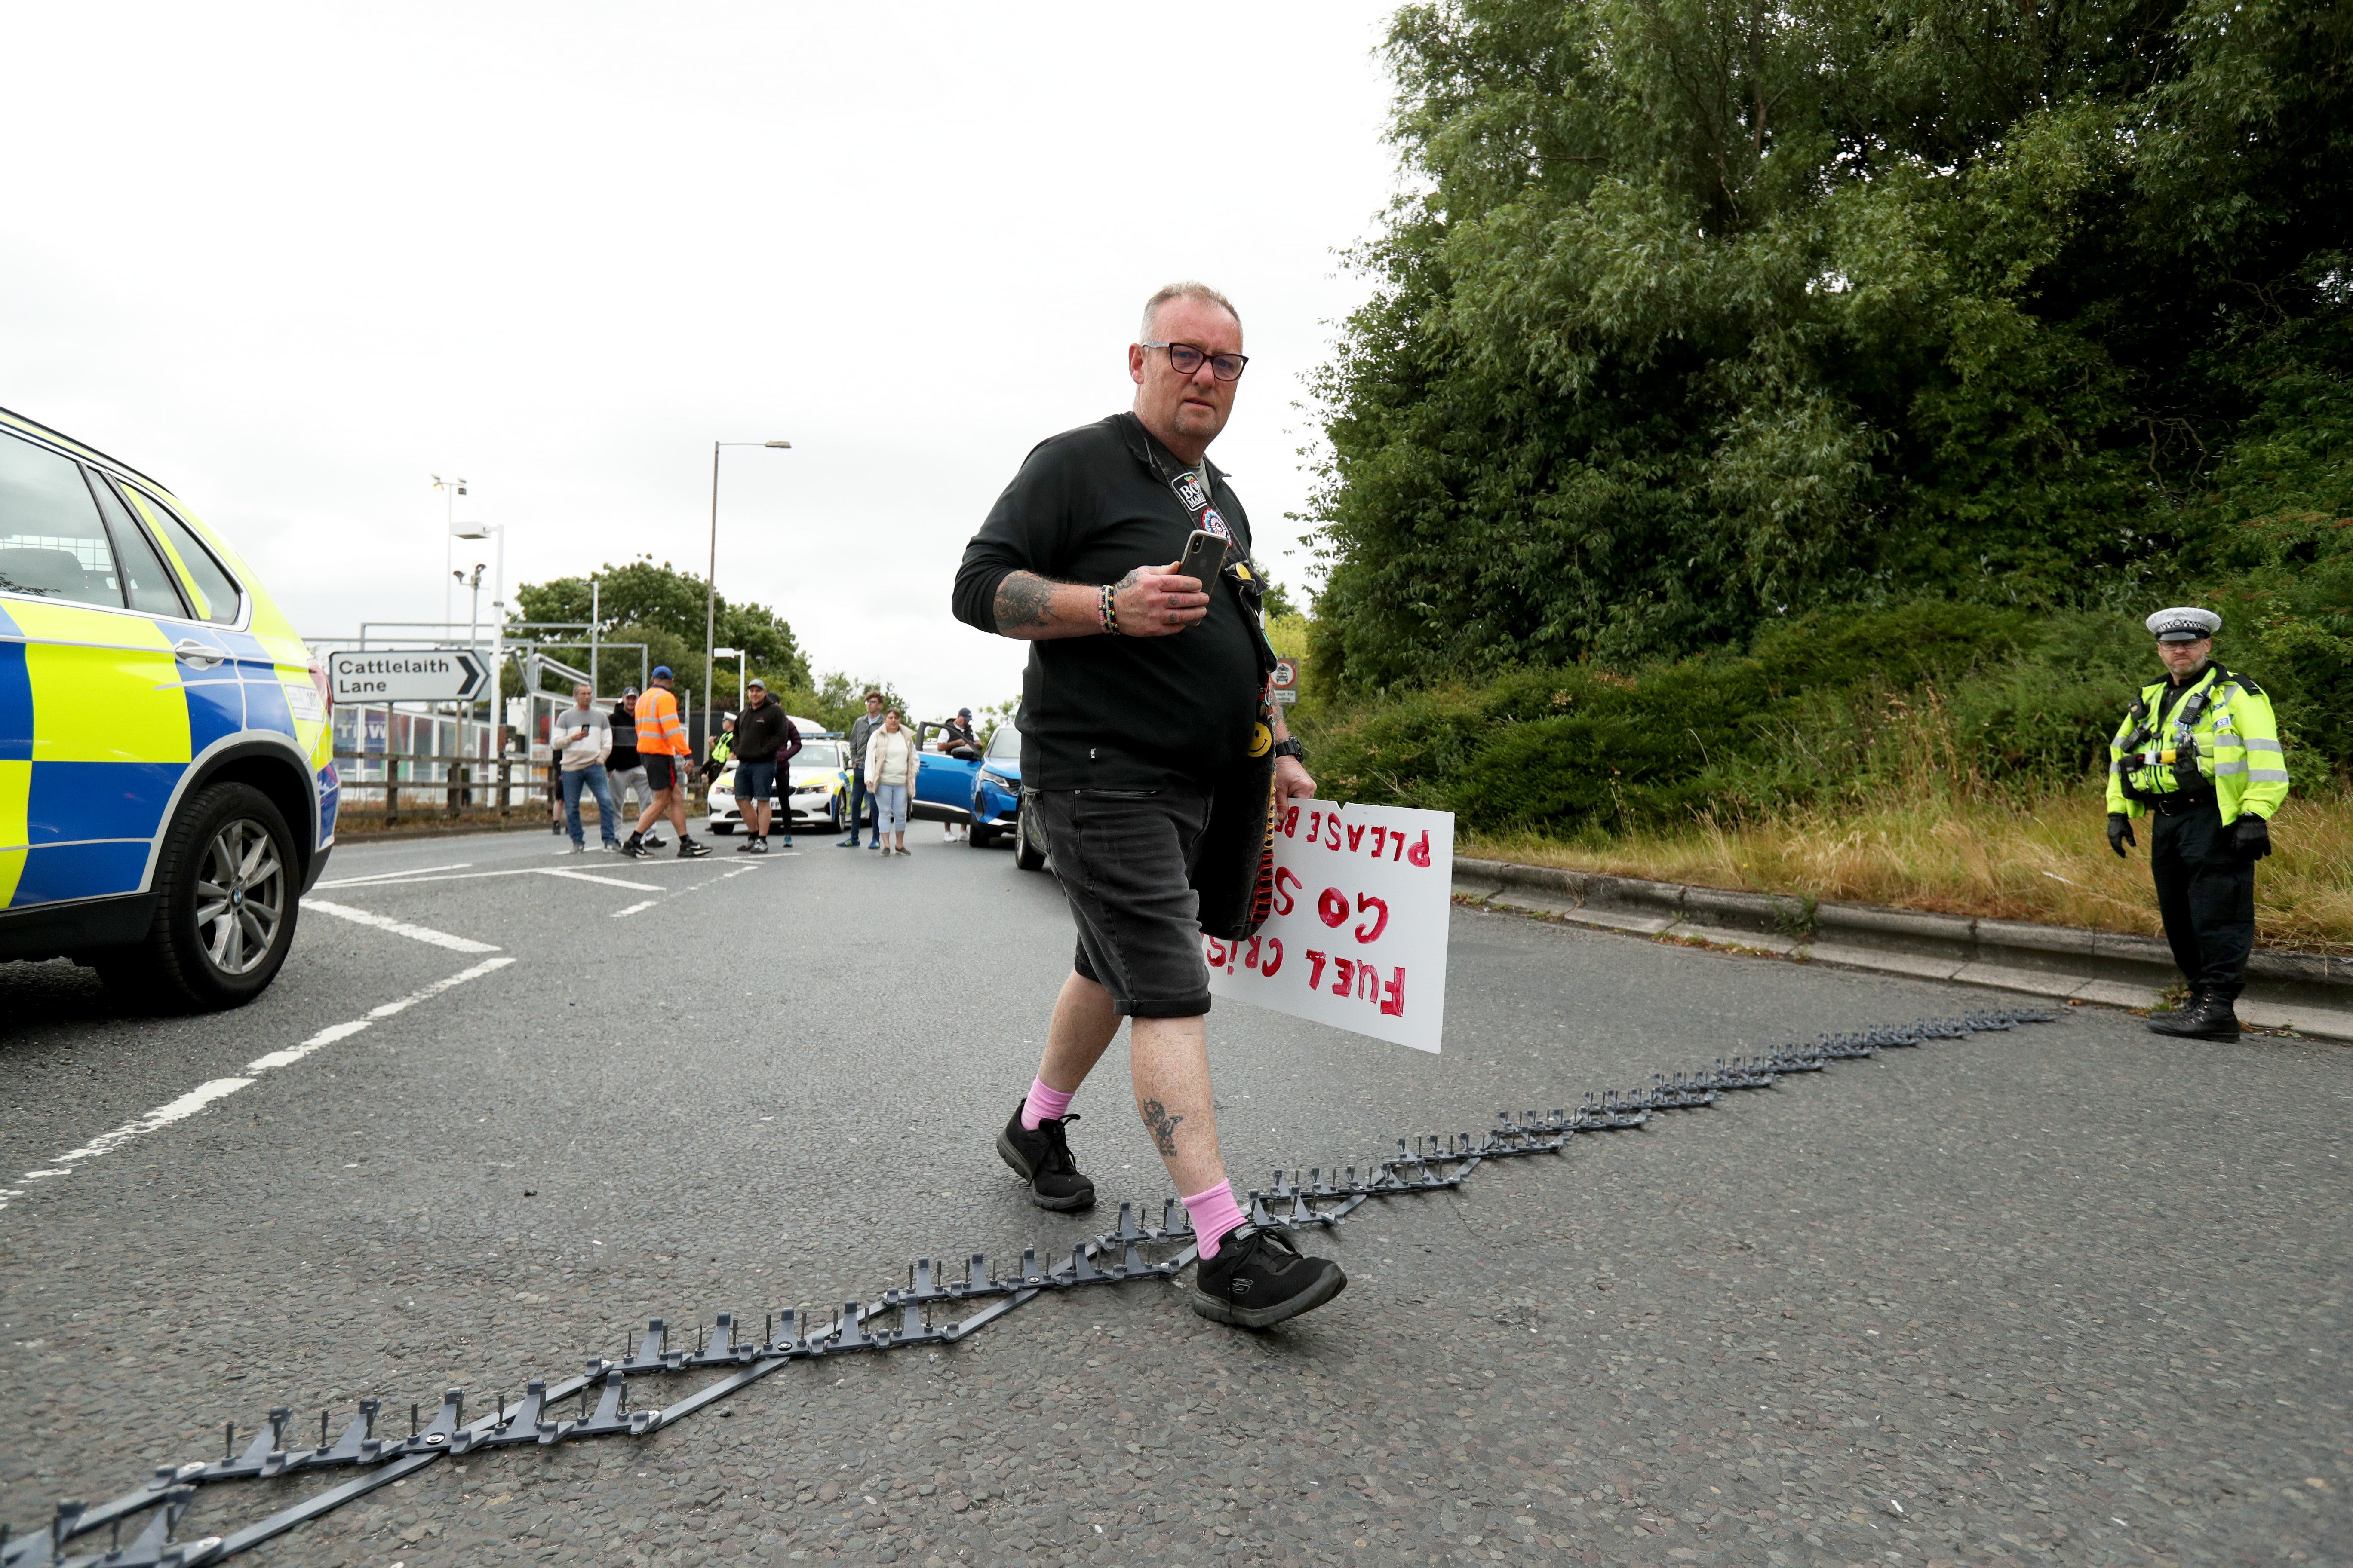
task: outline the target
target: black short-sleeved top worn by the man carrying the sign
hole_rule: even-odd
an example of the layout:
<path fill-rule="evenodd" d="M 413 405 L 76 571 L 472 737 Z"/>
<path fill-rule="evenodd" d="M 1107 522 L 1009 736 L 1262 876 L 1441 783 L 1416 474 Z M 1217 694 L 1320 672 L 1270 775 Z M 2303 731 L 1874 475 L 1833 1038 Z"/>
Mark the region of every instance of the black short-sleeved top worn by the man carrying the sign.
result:
<path fill-rule="evenodd" d="M 1134 414 L 1064 430 L 1021 473 L 965 545 L 955 616 L 998 630 L 1012 571 L 1056 583 L 1118 583 L 1184 555 L 1193 520 L 1165 475 L 1184 463 Z M 1249 550 L 1249 517 L 1217 468 L 1217 512 Z M 1209 788 L 1240 762 L 1259 722 L 1259 646 L 1233 583 L 1209 616 L 1174 637 L 1033 642 L 1021 679 L 1021 783 L 1033 790 Z"/>

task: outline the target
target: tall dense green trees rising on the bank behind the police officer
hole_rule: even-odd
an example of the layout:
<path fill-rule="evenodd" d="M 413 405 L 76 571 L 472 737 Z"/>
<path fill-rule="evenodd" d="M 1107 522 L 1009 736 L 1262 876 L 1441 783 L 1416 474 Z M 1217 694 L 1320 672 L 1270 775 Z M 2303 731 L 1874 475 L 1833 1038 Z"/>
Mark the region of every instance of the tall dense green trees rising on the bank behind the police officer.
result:
<path fill-rule="evenodd" d="M 1388 59 L 1320 682 L 2146 607 L 2346 510 L 2344 0 L 1445 0 Z"/>

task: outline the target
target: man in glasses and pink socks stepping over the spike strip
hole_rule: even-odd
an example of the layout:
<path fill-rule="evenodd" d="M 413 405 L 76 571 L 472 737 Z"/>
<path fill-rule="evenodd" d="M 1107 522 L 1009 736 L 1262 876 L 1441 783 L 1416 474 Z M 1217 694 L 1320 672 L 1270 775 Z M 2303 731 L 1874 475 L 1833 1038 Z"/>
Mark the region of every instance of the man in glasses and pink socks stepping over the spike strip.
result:
<path fill-rule="evenodd" d="M 998 1154 L 1042 1208 L 1085 1208 L 1071 1095 L 1129 1018 L 1136 1114 L 1184 1194 L 1200 1244 L 1193 1309 L 1264 1328 L 1348 1284 L 1280 1229 L 1242 1220 L 1209 1095 L 1209 966 L 1193 860 L 1214 780 L 1259 724 L 1261 632 L 1233 581 L 1174 576 L 1195 527 L 1247 557 L 1249 517 L 1209 465 L 1233 414 L 1242 320 L 1214 289 L 1169 284 L 1127 348 L 1134 409 L 1040 442 L 965 548 L 955 614 L 1031 644 L 1021 684 L 1024 813 L 1054 858 L 1078 954 L 1045 1058 Z M 1165 564 L 1160 564 L 1165 562 Z M 1313 795 L 1273 717 L 1282 795 Z"/>

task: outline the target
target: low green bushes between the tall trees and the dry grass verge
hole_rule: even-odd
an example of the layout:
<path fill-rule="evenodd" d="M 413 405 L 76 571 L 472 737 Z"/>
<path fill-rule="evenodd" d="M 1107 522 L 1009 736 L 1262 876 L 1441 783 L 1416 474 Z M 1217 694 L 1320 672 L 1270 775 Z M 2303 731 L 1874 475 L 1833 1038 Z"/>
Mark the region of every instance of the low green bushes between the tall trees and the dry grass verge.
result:
<path fill-rule="evenodd" d="M 2329 788 L 2353 762 L 2339 717 L 2353 665 L 2327 663 L 2311 625 L 2282 625 L 2294 637 L 2280 649 L 2247 628 L 2249 672 L 2280 710 L 2299 788 Z M 2240 668 L 2233 649 L 2224 663 Z M 1624 675 L 1520 668 L 1325 701 L 1304 705 L 1299 726 L 1334 797 L 1454 811 L 1466 832 L 1593 837 L 1897 790 L 2064 790 L 2106 771 L 2108 736 L 2158 672 L 2127 616 L 1894 604 L 1817 611 L 1746 654 Z"/>

